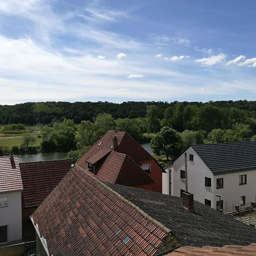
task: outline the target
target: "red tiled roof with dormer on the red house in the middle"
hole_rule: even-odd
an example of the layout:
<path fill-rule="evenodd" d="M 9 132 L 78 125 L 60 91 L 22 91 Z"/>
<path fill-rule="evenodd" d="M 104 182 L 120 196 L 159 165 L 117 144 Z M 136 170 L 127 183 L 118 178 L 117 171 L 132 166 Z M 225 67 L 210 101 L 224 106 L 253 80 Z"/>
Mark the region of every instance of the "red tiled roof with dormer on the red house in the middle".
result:
<path fill-rule="evenodd" d="M 117 137 L 118 147 L 112 150 L 113 137 Z M 129 134 L 123 131 L 108 131 L 77 163 L 88 171 L 88 163 L 95 164 L 93 172 L 98 179 L 122 185 L 155 183 L 138 165 L 139 160 L 153 159 Z"/>

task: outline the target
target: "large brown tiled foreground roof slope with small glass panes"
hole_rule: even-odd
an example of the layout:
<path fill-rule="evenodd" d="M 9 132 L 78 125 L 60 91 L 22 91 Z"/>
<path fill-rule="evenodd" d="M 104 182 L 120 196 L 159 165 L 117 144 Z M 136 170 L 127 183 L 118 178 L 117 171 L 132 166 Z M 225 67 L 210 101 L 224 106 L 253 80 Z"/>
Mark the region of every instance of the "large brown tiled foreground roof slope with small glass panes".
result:
<path fill-rule="evenodd" d="M 150 256 L 169 232 L 77 165 L 32 217 L 49 254 L 61 256 Z"/>

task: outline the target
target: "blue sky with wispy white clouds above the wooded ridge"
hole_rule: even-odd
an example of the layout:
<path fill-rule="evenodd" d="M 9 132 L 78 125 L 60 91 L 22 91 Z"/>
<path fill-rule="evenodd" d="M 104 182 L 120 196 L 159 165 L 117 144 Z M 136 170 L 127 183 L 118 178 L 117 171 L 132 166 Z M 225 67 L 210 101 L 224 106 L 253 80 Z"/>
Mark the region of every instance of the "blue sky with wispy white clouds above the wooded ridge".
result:
<path fill-rule="evenodd" d="M 1 0 L 0 105 L 255 100 L 255 0 Z"/>

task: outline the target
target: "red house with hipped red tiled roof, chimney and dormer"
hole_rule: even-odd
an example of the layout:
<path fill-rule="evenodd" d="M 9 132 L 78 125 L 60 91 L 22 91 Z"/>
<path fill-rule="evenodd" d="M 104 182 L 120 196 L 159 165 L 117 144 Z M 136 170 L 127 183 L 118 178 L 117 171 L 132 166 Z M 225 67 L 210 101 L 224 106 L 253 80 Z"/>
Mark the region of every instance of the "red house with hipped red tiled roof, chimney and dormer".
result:
<path fill-rule="evenodd" d="M 108 131 L 77 164 L 101 181 L 162 193 L 162 168 L 123 131 Z"/>

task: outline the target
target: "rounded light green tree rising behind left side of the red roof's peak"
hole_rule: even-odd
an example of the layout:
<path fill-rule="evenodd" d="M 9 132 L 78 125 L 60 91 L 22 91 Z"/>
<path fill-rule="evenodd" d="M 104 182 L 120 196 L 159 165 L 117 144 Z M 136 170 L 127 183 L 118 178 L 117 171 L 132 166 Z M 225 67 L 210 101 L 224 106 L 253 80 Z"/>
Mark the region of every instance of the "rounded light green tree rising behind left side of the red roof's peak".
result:
<path fill-rule="evenodd" d="M 108 130 L 114 129 L 114 118 L 110 114 L 98 114 L 94 122 L 96 141 Z"/>

